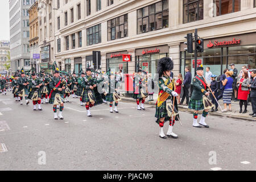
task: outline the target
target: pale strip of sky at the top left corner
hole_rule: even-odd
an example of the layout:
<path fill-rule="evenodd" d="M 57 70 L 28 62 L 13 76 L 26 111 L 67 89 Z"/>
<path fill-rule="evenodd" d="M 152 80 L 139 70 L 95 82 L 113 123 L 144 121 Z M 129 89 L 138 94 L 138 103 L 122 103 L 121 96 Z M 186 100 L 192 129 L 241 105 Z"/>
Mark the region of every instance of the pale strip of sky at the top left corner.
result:
<path fill-rule="evenodd" d="M 0 0 L 0 40 L 10 40 L 9 0 Z"/>

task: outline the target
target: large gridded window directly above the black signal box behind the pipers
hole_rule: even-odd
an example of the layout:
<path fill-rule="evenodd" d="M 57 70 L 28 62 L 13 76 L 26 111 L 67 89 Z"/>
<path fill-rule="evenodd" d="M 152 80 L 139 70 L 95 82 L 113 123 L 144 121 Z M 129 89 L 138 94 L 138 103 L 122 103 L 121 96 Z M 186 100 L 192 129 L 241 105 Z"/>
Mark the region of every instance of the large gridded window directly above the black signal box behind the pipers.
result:
<path fill-rule="evenodd" d="M 101 24 L 86 29 L 87 46 L 101 43 Z"/>

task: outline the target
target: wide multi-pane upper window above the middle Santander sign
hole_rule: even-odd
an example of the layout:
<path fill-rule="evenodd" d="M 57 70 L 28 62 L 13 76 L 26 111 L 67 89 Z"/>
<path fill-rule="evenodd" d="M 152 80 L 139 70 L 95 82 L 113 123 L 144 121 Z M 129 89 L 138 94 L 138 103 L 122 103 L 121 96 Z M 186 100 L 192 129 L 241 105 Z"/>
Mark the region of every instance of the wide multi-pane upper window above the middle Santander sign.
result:
<path fill-rule="evenodd" d="M 137 34 L 168 27 L 169 5 L 167 0 L 137 10 Z"/>

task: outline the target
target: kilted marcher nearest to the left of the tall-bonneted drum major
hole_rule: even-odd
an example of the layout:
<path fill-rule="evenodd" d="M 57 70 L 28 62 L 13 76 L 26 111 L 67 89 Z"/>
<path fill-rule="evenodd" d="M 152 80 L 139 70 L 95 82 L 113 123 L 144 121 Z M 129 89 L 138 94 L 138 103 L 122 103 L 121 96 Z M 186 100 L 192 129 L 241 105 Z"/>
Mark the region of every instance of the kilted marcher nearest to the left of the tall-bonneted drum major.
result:
<path fill-rule="evenodd" d="M 146 85 L 142 85 L 142 70 L 138 70 L 138 74 L 134 77 L 134 93 L 133 98 L 137 102 L 137 110 L 145 110 L 144 108 L 144 102 L 146 100 L 146 96 L 142 93 L 142 86 L 143 88 L 146 88 Z M 144 96 L 144 97 L 143 97 Z M 139 102 L 141 101 L 141 105 L 139 105 Z"/>

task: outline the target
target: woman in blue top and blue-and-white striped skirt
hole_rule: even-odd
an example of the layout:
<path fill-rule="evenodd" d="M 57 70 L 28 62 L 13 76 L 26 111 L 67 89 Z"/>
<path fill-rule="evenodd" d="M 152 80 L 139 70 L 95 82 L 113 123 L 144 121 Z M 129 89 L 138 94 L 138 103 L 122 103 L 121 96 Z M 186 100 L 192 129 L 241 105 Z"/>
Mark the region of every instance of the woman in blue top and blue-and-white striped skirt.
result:
<path fill-rule="evenodd" d="M 224 85 L 224 92 L 223 92 L 223 103 L 224 103 L 224 112 L 228 111 L 226 109 L 226 105 L 229 105 L 229 111 L 232 111 L 231 109 L 231 97 L 233 93 L 232 85 L 233 85 L 233 79 L 232 75 L 234 74 L 233 71 L 228 71 L 225 73 L 226 78 L 224 81 L 222 81 L 222 85 Z"/>

